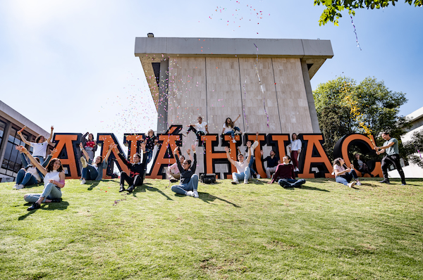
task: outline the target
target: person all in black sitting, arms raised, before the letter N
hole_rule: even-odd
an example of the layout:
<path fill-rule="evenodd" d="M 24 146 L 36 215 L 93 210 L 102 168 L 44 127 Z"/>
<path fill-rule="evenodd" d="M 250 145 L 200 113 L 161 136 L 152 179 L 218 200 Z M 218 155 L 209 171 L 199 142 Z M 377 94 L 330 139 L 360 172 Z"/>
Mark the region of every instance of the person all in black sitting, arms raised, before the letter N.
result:
<path fill-rule="evenodd" d="M 130 163 L 124 155 L 119 153 L 117 145 L 114 146 L 115 152 L 118 154 L 119 158 L 123 161 L 123 163 L 128 166 L 130 170 L 130 174 L 126 174 L 126 172 L 121 172 L 121 188 L 119 192 L 128 191 L 128 193 L 132 193 L 135 189 L 135 186 L 142 186 L 144 182 L 144 171 L 145 167 L 147 166 L 147 153 L 145 153 L 145 142 L 141 143 L 141 150 L 142 150 L 142 162 L 141 162 L 141 155 L 139 153 L 135 153 L 133 155 L 134 163 Z M 125 190 L 125 181 L 128 183 L 129 188 Z"/>

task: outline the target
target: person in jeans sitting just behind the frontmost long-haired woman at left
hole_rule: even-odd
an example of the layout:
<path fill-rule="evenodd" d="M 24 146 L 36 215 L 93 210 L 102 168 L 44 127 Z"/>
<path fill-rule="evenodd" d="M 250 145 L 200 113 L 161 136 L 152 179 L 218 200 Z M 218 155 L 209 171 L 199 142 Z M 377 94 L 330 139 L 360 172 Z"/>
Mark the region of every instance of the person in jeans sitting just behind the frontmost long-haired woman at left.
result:
<path fill-rule="evenodd" d="M 23 168 L 21 168 L 18 171 L 18 174 L 16 174 L 16 185 L 13 186 L 13 189 L 23 189 L 25 188 L 25 186 L 39 184 L 39 182 L 44 179 L 43 174 L 39 170 L 37 170 L 37 167 L 28 163 L 27 157 L 20 150 L 20 146 L 16 146 L 16 150 L 20 151 L 20 161 L 22 162 Z M 56 151 L 56 149 L 51 151 L 49 156 L 47 156 L 46 160 L 42 164 L 42 167 L 45 168 L 49 164 L 51 160 L 51 155 L 56 153 Z M 37 160 L 37 162 L 39 163 L 39 158 L 35 158 L 35 160 Z"/>

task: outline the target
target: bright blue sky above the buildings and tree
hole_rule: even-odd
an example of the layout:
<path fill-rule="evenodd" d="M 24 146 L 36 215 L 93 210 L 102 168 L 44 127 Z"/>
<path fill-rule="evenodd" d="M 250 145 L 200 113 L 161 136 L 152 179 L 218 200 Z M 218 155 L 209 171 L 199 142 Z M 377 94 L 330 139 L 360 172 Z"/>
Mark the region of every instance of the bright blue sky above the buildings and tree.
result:
<path fill-rule="evenodd" d="M 321 11 L 312 0 L 0 1 L 0 100 L 47 131 L 114 132 L 121 140 L 124 132 L 155 130 L 157 113 L 134 56 L 135 37 L 153 32 L 330 39 L 334 56 L 314 75 L 313 89 L 340 75 L 374 76 L 406 93 L 401 115 L 422 107 L 423 8 L 400 1 L 358 10 L 362 51 L 348 13 L 339 27 L 319 26 Z"/>

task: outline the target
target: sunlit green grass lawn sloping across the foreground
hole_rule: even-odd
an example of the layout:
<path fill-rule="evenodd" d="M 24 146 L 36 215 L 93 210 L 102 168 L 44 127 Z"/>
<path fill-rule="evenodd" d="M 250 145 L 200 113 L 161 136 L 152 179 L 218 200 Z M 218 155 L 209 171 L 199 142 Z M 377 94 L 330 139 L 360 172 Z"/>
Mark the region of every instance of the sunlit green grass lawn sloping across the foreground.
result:
<path fill-rule="evenodd" d="M 0 279 L 423 279 L 422 179 L 377 181 L 219 180 L 192 198 L 67 180 L 32 212 L 23 195 L 42 186 L 2 183 Z"/>

